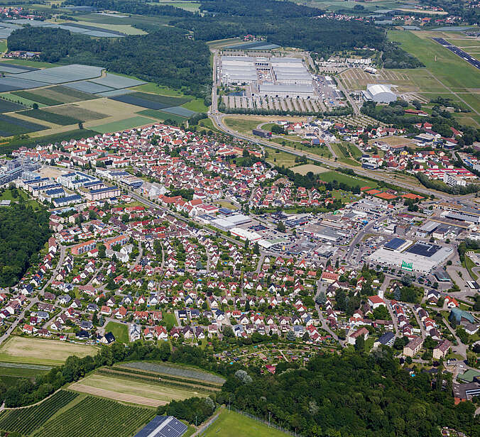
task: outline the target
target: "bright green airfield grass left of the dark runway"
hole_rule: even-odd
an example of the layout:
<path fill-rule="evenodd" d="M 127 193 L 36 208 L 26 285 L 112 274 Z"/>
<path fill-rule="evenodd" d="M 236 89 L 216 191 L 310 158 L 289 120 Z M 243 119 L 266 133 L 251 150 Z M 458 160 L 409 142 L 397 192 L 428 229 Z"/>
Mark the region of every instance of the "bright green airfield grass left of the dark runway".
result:
<path fill-rule="evenodd" d="M 422 38 L 419 35 L 422 35 Z M 442 84 L 452 88 L 453 91 L 480 88 L 479 70 L 439 43 L 435 43 L 429 33 L 388 31 L 388 38 L 400 43 L 404 50 L 418 57 L 434 77 L 440 79 Z M 422 89 L 422 91 L 430 90 Z"/>

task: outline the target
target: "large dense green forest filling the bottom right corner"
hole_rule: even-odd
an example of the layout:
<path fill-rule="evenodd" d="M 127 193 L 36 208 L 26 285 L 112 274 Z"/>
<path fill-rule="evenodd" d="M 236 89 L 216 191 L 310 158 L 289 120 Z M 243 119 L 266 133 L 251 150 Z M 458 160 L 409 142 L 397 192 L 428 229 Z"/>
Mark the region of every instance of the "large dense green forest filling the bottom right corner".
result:
<path fill-rule="evenodd" d="M 440 437 L 440 426 L 480 436 L 474 404 L 454 406 L 451 377 L 440 372 L 434 384 L 427 373 L 411 377 L 389 351 L 320 355 L 306 368 L 289 365 L 280 364 L 276 375 L 249 371 L 250 380 L 230 375 L 223 402 L 230 397 L 243 411 L 271 413 L 272 421 L 307 437 Z"/>

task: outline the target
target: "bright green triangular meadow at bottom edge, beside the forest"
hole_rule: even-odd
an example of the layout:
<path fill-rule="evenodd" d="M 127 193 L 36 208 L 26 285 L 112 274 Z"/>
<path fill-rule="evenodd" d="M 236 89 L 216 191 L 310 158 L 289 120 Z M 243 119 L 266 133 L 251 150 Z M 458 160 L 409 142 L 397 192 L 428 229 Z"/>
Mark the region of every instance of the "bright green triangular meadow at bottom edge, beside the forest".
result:
<path fill-rule="evenodd" d="M 268 427 L 235 411 L 222 409 L 219 418 L 207 428 L 202 437 L 285 437 L 288 434 Z"/>

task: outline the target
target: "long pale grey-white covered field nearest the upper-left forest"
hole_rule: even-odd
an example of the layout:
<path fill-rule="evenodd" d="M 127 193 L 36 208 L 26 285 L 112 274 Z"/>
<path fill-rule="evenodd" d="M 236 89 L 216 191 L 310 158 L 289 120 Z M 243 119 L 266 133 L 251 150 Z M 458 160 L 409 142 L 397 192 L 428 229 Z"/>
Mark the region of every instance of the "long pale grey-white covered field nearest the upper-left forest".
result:
<path fill-rule="evenodd" d="M 66 82 L 77 82 L 79 80 L 94 79 L 102 75 L 102 67 L 93 67 L 92 65 L 62 65 L 62 67 L 53 67 L 45 70 L 36 70 L 17 74 L 15 79 L 28 79 L 48 84 L 62 84 Z M 40 87 L 41 85 L 38 85 Z"/>

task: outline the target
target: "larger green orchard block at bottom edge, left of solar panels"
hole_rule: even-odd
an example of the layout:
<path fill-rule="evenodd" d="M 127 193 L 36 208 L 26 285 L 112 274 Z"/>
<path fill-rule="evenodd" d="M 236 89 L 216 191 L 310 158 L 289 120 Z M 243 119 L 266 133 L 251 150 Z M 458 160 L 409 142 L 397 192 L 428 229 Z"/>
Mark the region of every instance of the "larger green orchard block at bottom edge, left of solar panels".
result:
<path fill-rule="evenodd" d="M 33 437 L 131 437 L 153 416 L 153 409 L 88 396 L 49 421 Z"/>

